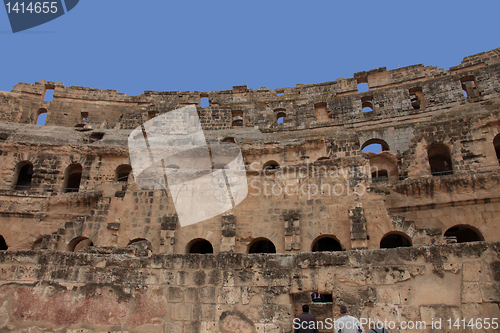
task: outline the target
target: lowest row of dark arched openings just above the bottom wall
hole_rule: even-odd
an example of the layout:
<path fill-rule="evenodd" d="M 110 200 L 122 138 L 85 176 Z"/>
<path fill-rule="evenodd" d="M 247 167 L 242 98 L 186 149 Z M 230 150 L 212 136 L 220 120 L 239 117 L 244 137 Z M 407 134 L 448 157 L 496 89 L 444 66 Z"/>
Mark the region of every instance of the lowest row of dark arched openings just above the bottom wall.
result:
<path fill-rule="evenodd" d="M 444 238 L 447 242 L 450 243 L 466 243 L 466 242 L 478 242 L 484 241 L 483 235 L 479 232 L 478 229 L 468 226 L 468 225 L 456 225 L 449 228 L 444 233 Z M 136 242 L 145 241 L 148 242 L 144 238 L 137 238 L 131 240 L 128 245 L 131 245 Z M 37 249 L 38 245 L 41 243 L 41 239 L 35 242 L 33 249 Z M 149 243 L 149 242 L 148 242 Z M 77 237 L 69 242 L 67 246 L 68 251 L 77 252 L 85 247 L 93 246 L 92 241 L 87 237 Z M 150 243 L 149 243 L 150 246 Z M 380 240 L 380 248 L 381 249 L 391 249 L 398 247 L 410 247 L 413 246 L 413 242 L 411 238 L 403 232 L 392 231 L 384 235 Z M 7 245 L 5 240 L 0 235 L 0 250 L 7 250 Z M 344 251 L 345 248 L 339 242 L 337 238 L 330 235 L 322 235 L 316 238 L 313 241 L 311 246 L 312 252 L 335 252 L 335 251 Z M 196 238 L 191 240 L 186 245 L 186 253 L 197 253 L 197 254 L 211 254 L 214 253 L 214 249 L 212 244 L 203 238 Z M 264 237 L 254 239 L 247 246 L 248 254 L 258 254 L 258 253 L 277 253 L 276 246 L 274 243 Z"/>

